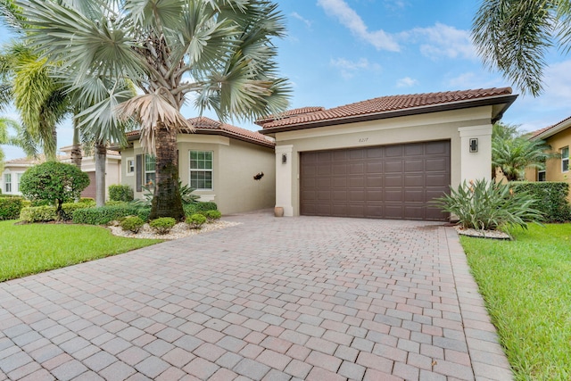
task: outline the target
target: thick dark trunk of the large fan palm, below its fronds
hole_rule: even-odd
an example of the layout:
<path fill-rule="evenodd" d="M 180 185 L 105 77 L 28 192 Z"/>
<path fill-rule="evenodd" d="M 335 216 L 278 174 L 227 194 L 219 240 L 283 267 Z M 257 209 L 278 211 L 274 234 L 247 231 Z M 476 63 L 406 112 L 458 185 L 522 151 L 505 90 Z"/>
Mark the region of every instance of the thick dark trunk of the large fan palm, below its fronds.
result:
<path fill-rule="evenodd" d="M 156 132 L 156 178 L 149 219 L 185 218 L 178 189 L 177 130 L 158 123 Z"/>

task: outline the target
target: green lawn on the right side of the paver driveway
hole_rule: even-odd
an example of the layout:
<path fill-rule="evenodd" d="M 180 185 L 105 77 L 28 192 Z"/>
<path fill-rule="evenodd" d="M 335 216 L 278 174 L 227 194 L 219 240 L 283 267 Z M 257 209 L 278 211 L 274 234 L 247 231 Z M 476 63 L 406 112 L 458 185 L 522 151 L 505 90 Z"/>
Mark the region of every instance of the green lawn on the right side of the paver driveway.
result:
<path fill-rule="evenodd" d="M 517 380 L 571 379 L 571 224 L 461 237 Z"/>

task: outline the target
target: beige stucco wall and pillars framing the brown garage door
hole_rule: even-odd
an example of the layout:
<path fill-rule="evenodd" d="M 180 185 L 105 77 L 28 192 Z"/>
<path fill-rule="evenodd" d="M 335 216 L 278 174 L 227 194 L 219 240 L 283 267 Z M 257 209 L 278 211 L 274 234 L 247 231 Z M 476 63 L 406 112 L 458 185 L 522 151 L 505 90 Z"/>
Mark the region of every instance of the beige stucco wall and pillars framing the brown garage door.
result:
<path fill-rule="evenodd" d="M 299 215 L 300 153 L 306 151 L 450 140 L 451 186 L 464 179 L 490 179 L 491 118 L 492 106 L 482 106 L 277 133 L 276 206 L 284 208 L 285 216 Z M 478 152 L 469 153 L 468 142 L 474 137 Z"/>

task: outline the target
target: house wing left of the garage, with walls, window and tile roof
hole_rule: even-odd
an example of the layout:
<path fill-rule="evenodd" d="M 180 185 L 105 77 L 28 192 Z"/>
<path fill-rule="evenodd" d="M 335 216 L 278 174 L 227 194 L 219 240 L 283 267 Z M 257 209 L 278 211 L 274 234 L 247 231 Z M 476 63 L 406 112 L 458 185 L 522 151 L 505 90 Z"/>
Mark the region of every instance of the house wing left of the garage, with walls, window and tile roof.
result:
<path fill-rule="evenodd" d="M 194 133 L 179 133 L 178 171 L 200 201 L 213 201 L 224 214 L 272 208 L 275 203 L 274 142 L 255 131 L 200 117 L 190 119 Z M 122 183 L 143 195 L 154 182 L 154 157 L 145 154 L 139 131 L 129 132 L 122 158 Z M 263 174 L 263 175 L 262 175 Z M 256 179 L 257 178 L 257 179 Z"/>

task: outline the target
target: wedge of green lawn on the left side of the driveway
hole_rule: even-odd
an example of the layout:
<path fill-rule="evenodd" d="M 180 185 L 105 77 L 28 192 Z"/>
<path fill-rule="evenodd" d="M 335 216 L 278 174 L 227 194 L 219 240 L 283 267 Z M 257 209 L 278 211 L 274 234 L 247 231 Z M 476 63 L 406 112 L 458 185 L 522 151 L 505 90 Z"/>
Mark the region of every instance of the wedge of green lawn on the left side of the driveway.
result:
<path fill-rule="evenodd" d="M 14 225 L 14 222 L 0 221 L 0 281 L 161 242 L 113 236 L 106 228 L 88 225 Z"/>

